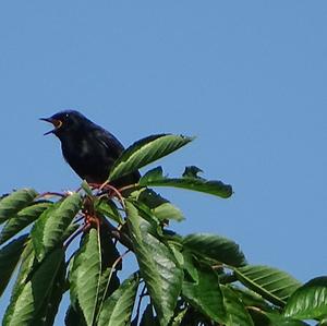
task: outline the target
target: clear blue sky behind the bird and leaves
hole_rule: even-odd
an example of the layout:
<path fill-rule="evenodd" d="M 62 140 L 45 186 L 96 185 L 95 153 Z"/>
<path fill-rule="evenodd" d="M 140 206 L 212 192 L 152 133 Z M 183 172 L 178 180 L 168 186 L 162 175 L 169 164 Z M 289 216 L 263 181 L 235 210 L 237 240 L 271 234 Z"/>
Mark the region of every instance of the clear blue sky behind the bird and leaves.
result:
<path fill-rule="evenodd" d="M 186 216 L 172 228 L 302 281 L 326 274 L 326 1 L 2 1 L 0 192 L 78 186 L 37 120 L 60 109 L 124 145 L 196 135 L 165 171 L 196 165 L 234 195 L 162 191 Z"/>

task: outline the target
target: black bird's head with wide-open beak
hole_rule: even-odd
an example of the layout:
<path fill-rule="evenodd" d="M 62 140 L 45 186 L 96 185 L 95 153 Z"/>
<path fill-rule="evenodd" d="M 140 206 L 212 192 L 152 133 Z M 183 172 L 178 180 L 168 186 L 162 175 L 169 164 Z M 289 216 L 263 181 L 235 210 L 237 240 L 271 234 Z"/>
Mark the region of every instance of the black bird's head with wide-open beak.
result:
<path fill-rule="evenodd" d="M 81 130 L 86 122 L 89 122 L 82 113 L 74 110 L 65 110 L 58 112 L 49 118 L 40 118 L 40 120 L 53 124 L 53 129 L 46 132 L 45 135 L 53 133 L 58 137 L 66 134 L 68 132 L 75 132 Z"/>

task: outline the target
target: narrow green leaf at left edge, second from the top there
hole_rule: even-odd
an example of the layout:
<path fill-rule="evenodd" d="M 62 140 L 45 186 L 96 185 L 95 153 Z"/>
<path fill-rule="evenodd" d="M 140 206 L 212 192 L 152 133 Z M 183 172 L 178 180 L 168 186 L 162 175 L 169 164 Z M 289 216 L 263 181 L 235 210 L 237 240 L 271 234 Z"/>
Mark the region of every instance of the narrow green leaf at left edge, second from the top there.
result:
<path fill-rule="evenodd" d="M 0 233 L 0 244 L 14 237 L 29 224 L 35 221 L 52 203 L 36 203 L 27 206 L 11 217 Z"/>

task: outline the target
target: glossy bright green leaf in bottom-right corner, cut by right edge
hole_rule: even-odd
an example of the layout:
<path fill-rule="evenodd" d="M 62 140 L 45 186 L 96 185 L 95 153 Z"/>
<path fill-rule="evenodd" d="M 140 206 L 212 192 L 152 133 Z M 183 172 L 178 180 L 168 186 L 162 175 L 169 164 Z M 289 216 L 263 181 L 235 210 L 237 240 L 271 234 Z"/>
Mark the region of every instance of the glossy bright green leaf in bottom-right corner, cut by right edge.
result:
<path fill-rule="evenodd" d="M 287 317 L 315 319 L 327 315 L 327 276 L 317 277 L 299 288 L 288 300 Z"/>

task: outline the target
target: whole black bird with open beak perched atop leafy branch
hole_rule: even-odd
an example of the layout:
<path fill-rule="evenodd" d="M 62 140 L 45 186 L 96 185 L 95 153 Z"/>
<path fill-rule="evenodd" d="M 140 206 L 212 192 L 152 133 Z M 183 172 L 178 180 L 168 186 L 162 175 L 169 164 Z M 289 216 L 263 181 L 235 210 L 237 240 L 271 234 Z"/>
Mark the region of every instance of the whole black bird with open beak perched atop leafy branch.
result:
<path fill-rule="evenodd" d="M 61 142 L 64 159 L 88 183 L 104 183 L 113 162 L 123 152 L 123 145 L 108 131 L 95 124 L 82 113 L 65 110 L 40 120 L 50 122 L 53 133 Z M 138 171 L 114 180 L 111 184 L 123 186 L 136 183 Z"/>

